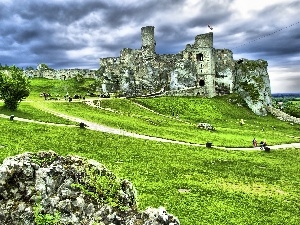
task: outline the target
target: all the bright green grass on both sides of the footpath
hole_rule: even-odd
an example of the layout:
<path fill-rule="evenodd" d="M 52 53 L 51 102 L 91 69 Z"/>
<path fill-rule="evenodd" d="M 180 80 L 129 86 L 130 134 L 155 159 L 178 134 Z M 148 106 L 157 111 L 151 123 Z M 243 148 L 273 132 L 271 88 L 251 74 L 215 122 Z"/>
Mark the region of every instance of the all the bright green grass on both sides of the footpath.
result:
<path fill-rule="evenodd" d="M 34 82 L 43 86 L 48 80 Z M 36 96 L 40 89 L 32 89 L 29 99 L 34 101 L 22 102 L 14 115 L 73 123 L 41 110 L 49 108 L 136 133 L 193 143 L 212 141 L 220 146 L 249 147 L 254 136 L 257 140 L 266 138 L 269 144 L 300 142 L 296 138 L 299 125 L 270 115 L 256 116 L 238 106 L 236 96 L 102 100 L 102 107 L 115 110 L 110 112 L 80 102 L 45 101 Z M 61 89 L 58 92 L 63 93 Z M 165 116 L 142 109 L 134 102 Z M 173 112 L 184 122 L 166 117 L 172 117 Z M 0 113 L 11 112 L 1 107 Z M 238 123 L 242 118 L 244 126 Z M 199 122 L 211 123 L 216 131 L 199 130 L 195 126 Z M 164 206 L 183 225 L 300 224 L 300 151 L 296 149 L 270 153 L 218 150 L 3 118 L 0 130 L 0 162 L 8 156 L 41 150 L 93 158 L 134 184 L 140 210 Z"/>

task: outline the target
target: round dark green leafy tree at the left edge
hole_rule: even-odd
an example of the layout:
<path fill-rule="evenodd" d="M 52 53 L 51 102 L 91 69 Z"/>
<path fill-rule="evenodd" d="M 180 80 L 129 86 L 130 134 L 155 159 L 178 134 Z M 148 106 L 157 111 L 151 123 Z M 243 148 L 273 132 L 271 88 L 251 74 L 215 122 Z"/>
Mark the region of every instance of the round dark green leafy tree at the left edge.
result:
<path fill-rule="evenodd" d="M 29 87 L 30 82 L 22 69 L 11 66 L 6 70 L 0 70 L 0 96 L 7 109 L 16 110 L 20 102 L 29 96 Z"/>

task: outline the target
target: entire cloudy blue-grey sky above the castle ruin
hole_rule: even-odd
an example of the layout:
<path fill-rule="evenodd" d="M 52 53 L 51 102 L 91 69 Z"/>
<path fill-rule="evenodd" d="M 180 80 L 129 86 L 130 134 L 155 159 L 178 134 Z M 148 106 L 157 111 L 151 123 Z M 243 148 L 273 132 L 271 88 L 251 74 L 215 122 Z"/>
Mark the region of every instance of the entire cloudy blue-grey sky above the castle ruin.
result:
<path fill-rule="evenodd" d="M 264 59 L 272 93 L 300 92 L 299 0 L 0 0 L 0 63 L 98 69 L 99 58 L 141 47 L 178 53 L 213 27 L 214 47 Z"/>

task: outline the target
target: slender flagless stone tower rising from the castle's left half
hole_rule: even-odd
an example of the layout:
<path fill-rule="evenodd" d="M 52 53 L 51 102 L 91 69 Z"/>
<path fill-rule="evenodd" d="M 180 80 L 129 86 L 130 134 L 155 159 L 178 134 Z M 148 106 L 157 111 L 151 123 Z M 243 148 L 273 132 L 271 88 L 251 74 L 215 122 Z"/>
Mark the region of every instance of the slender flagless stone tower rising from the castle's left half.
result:
<path fill-rule="evenodd" d="M 142 33 L 142 52 L 144 57 L 153 57 L 155 54 L 154 26 L 141 28 Z"/>

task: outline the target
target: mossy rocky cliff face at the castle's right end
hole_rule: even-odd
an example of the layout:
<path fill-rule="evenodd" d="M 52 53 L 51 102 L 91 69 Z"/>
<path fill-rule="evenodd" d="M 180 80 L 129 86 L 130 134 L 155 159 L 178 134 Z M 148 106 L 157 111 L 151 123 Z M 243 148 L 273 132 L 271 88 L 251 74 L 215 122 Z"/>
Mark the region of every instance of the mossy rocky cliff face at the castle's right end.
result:
<path fill-rule="evenodd" d="M 257 115 L 267 115 L 266 106 L 272 104 L 268 63 L 264 60 L 237 61 L 234 91 L 246 101 Z"/>

